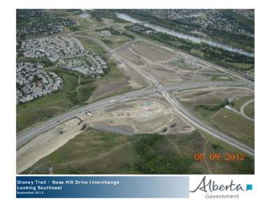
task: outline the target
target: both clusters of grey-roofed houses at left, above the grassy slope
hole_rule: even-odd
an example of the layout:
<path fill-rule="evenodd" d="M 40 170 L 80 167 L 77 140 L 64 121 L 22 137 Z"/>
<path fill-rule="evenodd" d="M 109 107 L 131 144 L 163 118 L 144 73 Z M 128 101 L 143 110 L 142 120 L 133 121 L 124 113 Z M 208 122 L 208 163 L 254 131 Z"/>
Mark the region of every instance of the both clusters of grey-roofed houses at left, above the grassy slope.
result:
<path fill-rule="evenodd" d="M 26 59 L 39 59 L 45 56 L 50 62 L 59 61 L 59 66 L 86 77 L 100 78 L 108 68 L 98 54 L 85 51 L 77 38 L 57 36 L 22 41 L 19 51 Z M 55 72 L 45 72 L 38 63 L 17 63 L 17 104 L 29 102 L 48 95 L 61 88 L 62 79 Z"/>

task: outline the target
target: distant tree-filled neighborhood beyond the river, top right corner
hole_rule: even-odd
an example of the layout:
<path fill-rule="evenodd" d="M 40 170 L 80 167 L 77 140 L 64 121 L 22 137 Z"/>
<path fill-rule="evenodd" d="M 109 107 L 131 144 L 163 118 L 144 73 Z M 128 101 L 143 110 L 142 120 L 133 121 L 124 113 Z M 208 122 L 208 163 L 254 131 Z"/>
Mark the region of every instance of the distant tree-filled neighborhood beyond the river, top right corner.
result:
<path fill-rule="evenodd" d="M 254 13 L 249 13 L 249 11 L 244 12 L 243 10 L 228 11 L 212 9 L 134 9 L 131 10 L 131 12 L 145 15 L 146 17 L 156 17 L 159 18 L 159 20 L 173 20 L 175 22 L 180 22 L 184 25 L 183 27 L 179 28 L 180 30 L 189 30 L 191 33 L 198 31 L 198 35 L 201 36 L 204 36 L 203 33 L 208 30 L 217 30 L 254 37 L 254 31 L 248 29 L 245 24 L 240 24 L 240 22 L 233 21 L 233 18 L 230 16 L 235 15 L 236 13 L 242 17 L 254 20 Z"/>

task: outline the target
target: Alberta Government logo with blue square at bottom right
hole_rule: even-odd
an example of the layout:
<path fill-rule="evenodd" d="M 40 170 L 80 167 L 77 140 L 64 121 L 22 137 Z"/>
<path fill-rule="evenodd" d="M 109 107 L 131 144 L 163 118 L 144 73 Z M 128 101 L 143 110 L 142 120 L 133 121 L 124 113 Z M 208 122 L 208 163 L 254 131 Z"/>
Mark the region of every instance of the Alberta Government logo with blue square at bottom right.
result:
<path fill-rule="evenodd" d="M 207 180 L 206 176 L 203 177 L 203 179 L 200 181 L 199 185 L 193 189 L 190 190 L 190 192 L 197 192 L 198 190 L 205 192 L 205 198 L 206 199 L 239 199 L 239 194 L 236 194 L 236 192 L 244 192 L 248 190 L 252 190 L 252 185 L 241 185 L 234 183 L 233 180 L 230 180 L 228 184 L 217 184 L 214 180 L 210 179 Z M 213 192 L 235 192 L 235 194 L 210 194 Z"/>

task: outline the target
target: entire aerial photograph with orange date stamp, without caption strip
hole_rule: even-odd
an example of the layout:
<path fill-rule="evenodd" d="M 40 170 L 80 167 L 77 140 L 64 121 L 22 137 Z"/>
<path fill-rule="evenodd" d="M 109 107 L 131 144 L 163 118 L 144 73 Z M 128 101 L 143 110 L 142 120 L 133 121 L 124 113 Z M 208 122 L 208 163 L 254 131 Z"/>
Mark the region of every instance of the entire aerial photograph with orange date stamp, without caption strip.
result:
<path fill-rule="evenodd" d="M 17 174 L 254 174 L 253 9 L 17 9 Z"/>

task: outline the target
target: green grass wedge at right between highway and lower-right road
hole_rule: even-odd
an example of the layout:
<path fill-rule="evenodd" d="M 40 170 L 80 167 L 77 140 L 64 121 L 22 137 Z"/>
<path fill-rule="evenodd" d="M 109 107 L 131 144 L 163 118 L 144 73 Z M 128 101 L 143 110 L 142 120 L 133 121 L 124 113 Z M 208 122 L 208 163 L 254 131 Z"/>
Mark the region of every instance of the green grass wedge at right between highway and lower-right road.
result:
<path fill-rule="evenodd" d="M 240 110 L 242 104 L 247 100 L 251 100 L 251 98 L 253 97 L 240 98 L 229 105 Z M 182 104 L 198 118 L 217 128 L 217 130 L 221 130 L 244 144 L 254 147 L 254 122 L 249 121 L 240 114 L 226 110 L 224 101 L 213 98 L 206 101 L 182 102 Z M 249 111 L 249 114 L 254 114 L 254 108 L 249 107 Z"/>

